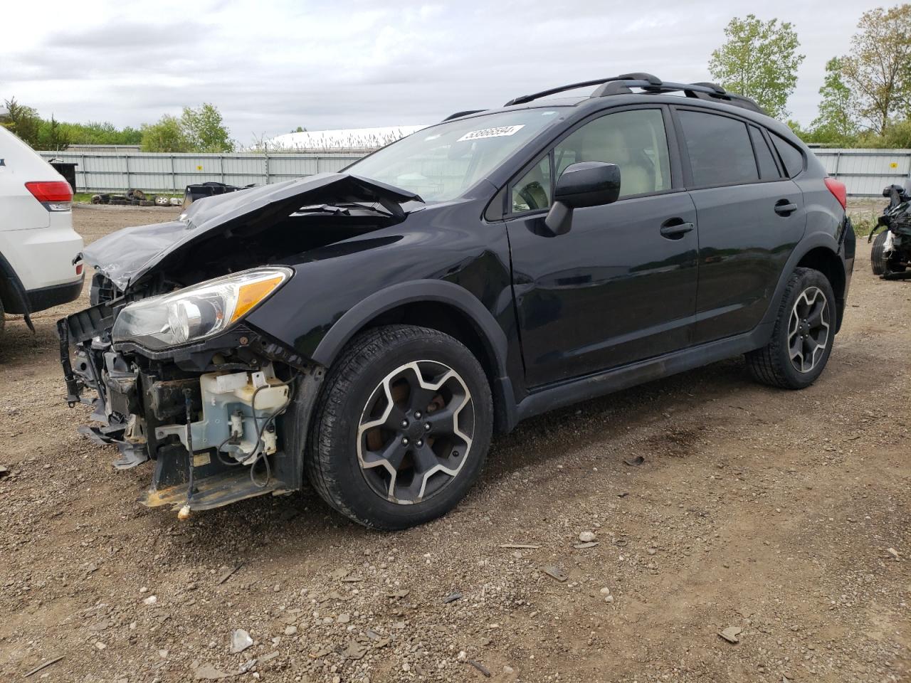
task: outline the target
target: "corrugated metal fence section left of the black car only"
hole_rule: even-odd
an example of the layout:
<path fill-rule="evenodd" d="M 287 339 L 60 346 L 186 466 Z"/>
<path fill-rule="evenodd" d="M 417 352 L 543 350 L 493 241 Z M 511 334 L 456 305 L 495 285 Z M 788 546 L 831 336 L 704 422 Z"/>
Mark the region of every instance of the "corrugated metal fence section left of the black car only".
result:
<path fill-rule="evenodd" d="M 193 183 L 228 185 L 281 182 L 336 171 L 362 158 L 354 154 L 152 154 L 143 152 L 39 152 L 47 159 L 77 164 L 77 192 L 138 188 L 183 193 Z"/>

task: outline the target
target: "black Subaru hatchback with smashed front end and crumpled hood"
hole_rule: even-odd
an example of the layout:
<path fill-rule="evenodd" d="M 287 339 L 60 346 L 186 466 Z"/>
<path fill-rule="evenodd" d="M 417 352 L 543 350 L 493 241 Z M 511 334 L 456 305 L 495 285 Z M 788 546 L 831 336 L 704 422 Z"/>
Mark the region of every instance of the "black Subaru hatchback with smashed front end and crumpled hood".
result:
<path fill-rule="evenodd" d="M 532 415 L 740 353 L 760 382 L 814 382 L 854 263 L 844 208 L 788 127 L 721 87 L 553 88 L 97 240 L 94 305 L 58 323 L 67 400 L 94 404 L 83 430 L 118 467 L 154 461 L 146 505 L 186 516 L 306 473 L 400 529 Z"/>

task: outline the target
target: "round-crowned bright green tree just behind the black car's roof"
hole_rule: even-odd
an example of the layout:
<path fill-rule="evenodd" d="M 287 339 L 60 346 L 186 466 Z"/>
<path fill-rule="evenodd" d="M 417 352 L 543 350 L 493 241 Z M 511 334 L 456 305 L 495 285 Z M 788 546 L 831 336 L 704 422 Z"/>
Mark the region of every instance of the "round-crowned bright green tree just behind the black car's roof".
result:
<path fill-rule="evenodd" d="M 771 117 L 787 116 L 804 55 L 793 26 L 778 19 L 737 16 L 724 28 L 724 44 L 711 53 L 709 71 L 722 87 L 752 97 Z"/>

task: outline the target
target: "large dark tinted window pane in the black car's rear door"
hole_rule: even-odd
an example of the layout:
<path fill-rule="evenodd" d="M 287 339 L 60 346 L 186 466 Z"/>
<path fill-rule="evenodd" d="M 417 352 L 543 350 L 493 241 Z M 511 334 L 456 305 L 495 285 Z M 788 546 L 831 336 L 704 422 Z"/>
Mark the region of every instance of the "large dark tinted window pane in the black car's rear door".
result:
<path fill-rule="evenodd" d="M 678 113 L 696 188 L 742 185 L 759 180 L 746 124 L 701 111 Z"/>

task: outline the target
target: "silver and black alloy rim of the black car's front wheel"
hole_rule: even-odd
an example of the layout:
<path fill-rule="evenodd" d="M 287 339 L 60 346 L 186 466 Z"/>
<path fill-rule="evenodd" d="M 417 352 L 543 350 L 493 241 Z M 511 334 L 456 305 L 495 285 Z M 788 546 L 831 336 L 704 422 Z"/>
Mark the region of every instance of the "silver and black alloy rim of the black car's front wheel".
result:
<path fill-rule="evenodd" d="M 458 372 L 442 362 L 408 362 L 384 377 L 363 408 L 358 463 L 374 493 L 420 503 L 455 480 L 474 433 L 474 402 Z"/>

